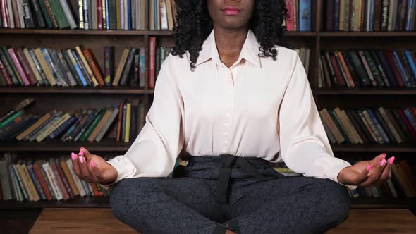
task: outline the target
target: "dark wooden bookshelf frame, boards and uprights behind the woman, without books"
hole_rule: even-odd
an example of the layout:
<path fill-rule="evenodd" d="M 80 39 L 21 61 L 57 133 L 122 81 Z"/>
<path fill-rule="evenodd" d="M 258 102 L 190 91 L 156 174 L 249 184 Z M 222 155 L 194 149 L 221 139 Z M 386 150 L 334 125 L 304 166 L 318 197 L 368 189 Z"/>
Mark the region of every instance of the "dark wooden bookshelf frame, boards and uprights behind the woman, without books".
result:
<path fill-rule="evenodd" d="M 75 4 L 75 0 L 70 1 Z M 318 109 L 327 106 L 341 108 L 358 108 L 360 106 L 416 106 L 416 90 L 386 88 L 318 88 L 319 51 L 322 49 L 378 48 L 403 49 L 416 48 L 416 32 L 324 32 L 320 25 L 324 0 L 312 1 L 312 30 L 310 32 L 288 32 L 290 45 L 310 48 L 310 70 L 308 78 Z M 146 1 L 145 8 L 148 8 Z M 99 66 L 104 68 L 103 47 L 114 45 L 114 65 L 121 59 L 125 47 L 143 46 L 148 61 L 149 37 L 156 37 L 157 46 L 173 45 L 172 31 L 148 30 L 148 12 L 145 11 L 145 30 L 46 30 L 46 29 L 0 29 L 0 45 L 12 47 L 56 47 L 67 48 L 82 45 L 90 48 L 97 57 Z M 109 106 L 117 104 L 123 98 L 140 97 L 145 100 L 147 109 L 152 104 L 154 90 L 149 88 L 148 64 L 145 71 L 145 87 L 0 87 L 0 113 L 11 109 L 26 97 L 35 97 L 35 105 L 27 111 L 46 113 L 50 109 L 67 111 L 84 106 Z M 130 142 L 131 143 L 131 142 Z M 0 142 L 0 152 L 21 152 L 28 155 L 42 153 L 55 155 L 69 154 L 87 147 L 91 152 L 126 152 L 130 143 L 103 139 L 102 142 Z M 385 152 L 387 156 L 397 159 L 408 159 L 415 163 L 416 144 L 333 144 L 334 154 L 341 159 L 362 157 L 371 159 Z M 109 207 L 108 197 L 78 197 L 66 202 L 0 202 L 0 209 L 30 209 L 44 207 Z M 352 207 L 356 208 L 409 208 L 416 209 L 416 198 L 393 199 L 391 197 L 353 199 Z"/>

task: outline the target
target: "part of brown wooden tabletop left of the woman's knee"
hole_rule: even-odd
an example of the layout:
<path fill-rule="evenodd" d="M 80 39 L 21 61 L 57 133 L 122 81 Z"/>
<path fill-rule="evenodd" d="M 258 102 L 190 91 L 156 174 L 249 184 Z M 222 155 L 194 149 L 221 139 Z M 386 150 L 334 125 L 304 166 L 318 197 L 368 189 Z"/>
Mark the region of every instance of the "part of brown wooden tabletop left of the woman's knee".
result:
<path fill-rule="evenodd" d="M 37 218 L 30 234 L 136 233 L 114 218 L 108 208 L 47 208 Z"/>

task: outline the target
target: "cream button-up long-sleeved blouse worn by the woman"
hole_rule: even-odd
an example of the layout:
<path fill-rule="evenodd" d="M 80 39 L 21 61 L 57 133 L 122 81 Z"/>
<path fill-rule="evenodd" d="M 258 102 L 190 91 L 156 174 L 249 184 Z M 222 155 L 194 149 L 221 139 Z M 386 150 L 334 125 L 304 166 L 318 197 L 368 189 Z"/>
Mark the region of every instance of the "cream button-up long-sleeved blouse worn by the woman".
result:
<path fill-rule="evenodd" d="M 126 154 L 108 161 L 118 172 L 114 183 L 168 176 L 183 148 L 195 156 L 284 161 L 296 173 L 339 183 L 338 173 L 351 164 L 332 152 L 298 54 L 275 49 L 276 61 L 260 58 L 249 30 L 238 60 L 227 68 L 212 30 L 194 72 L 188 51 L 183 58 L 169 54 L 145 126 Z"/>

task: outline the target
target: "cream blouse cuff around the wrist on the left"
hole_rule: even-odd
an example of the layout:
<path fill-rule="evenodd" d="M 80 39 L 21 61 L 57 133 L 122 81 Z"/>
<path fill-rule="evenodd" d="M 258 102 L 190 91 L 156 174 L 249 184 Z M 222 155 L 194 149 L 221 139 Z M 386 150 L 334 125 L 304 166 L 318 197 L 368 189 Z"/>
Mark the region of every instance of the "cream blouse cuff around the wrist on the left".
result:
<path fill-rule="evenodd" d="M 116 156 L 113 159 L 107 161 L 111 166 L 114 166 L 117 170 L 117 179 L 111 184 L 101 185 L 104 189 L 108 190 L 110 187 L 113 187 L 118 181 L 122 180 L 123 178 L 127 178 L 133 175 L 136 171 L 135 166 L 133 163 L 128 159 L 127 156 L 121 155 Z"/>

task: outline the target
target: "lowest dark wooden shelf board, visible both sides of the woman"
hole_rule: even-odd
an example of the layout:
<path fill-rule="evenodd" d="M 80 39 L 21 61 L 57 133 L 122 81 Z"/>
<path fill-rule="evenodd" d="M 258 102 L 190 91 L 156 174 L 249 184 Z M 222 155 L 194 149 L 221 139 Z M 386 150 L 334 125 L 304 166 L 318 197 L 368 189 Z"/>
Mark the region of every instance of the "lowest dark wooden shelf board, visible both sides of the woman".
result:
<path fill-rule="evenodd" d="M 77 197 L 68 201 L 52 202 L 0 202 L 0 209 L 35 209 L 35 208 L 107 208 L 109 197 Z M 351 208 L 405 208 L 415 209 L 416 198 L 392 197 L 358 197 L 351 198 Z"/>

